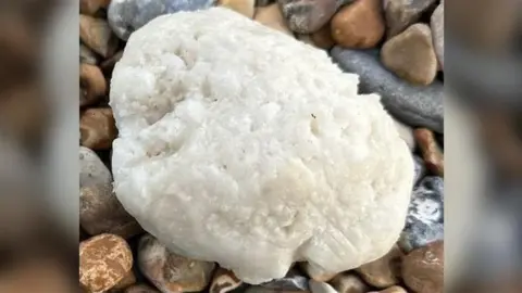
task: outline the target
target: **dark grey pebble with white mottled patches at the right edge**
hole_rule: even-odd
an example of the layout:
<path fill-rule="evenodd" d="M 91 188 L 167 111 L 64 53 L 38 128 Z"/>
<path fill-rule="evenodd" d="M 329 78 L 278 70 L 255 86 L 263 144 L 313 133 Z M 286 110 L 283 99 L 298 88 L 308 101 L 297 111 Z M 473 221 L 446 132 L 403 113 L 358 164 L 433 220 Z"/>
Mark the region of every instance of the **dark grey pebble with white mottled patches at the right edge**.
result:
<path fill-rule="evenodd" d="M 398 244 L 408 253 L 443 239 L 444 179 L 427 176 L 413 189 L 406 227 Z"/>

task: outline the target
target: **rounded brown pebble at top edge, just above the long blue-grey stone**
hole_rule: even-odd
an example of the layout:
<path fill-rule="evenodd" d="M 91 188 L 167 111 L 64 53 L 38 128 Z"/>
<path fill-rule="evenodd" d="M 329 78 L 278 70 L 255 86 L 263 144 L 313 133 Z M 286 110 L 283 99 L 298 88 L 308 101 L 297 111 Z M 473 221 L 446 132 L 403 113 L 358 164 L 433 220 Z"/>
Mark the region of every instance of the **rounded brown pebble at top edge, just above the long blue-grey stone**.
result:
<path fill-rule="evenodd" d="M 345 48 L 376 47 L 385 33 L 381 0 L 358 0 L 332 18 L 332 37 Z"/>

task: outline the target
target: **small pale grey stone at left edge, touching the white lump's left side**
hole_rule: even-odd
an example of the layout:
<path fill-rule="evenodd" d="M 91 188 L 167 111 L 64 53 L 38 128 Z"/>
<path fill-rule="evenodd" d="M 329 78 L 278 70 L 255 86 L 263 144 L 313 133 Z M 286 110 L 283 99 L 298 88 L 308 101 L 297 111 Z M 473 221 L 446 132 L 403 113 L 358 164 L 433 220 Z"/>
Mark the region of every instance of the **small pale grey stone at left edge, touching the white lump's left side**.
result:
<path fill-rule="evenodd" d="M 95 151 L 79 146 L 79 187 L 112 186 L 112 175 Z"/>

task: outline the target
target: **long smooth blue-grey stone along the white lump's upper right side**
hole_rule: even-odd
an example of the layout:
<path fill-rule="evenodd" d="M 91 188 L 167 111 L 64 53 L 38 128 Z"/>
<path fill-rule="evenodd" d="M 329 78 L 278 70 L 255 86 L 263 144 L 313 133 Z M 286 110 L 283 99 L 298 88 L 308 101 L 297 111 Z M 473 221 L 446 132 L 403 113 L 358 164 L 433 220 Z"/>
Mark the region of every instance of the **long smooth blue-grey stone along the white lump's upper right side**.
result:
<path fill-rule="evenodd" d="M 435 80 L 419 87 L 384 68 L 376 50 L 334 47 L 332 59 L 346 72 L 360 76 L 363 92 L 376 92 L 386 110 L 412 127 L 444 132 L 444 85 Z"/>

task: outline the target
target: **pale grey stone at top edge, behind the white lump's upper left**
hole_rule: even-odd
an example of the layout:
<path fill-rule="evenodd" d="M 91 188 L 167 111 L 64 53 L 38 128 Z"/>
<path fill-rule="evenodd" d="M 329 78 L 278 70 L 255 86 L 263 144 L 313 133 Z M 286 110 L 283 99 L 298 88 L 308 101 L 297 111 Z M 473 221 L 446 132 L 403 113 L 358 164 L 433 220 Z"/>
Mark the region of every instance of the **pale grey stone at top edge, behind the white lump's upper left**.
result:
<path fill-rule="evenodd" d="M 114 34 L 126 41 L 130 34 L 160 15 L 207 9 L 214 2 L 215 0 L 112 0 L 107 17 Z"/>

